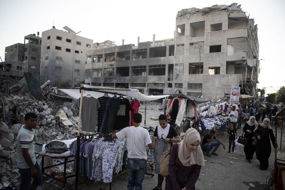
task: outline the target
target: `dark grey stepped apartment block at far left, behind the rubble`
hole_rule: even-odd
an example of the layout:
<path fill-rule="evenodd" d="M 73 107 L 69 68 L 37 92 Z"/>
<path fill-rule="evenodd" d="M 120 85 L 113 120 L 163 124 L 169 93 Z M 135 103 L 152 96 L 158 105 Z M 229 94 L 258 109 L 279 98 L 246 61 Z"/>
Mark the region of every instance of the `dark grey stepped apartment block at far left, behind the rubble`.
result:
<path fill-rule="evenodd" d="M 1 72 L 19 80 L 24 72 L 37 72 L 40 75 L 42 38 L 36 34 L 24 37 L 24 44 L 17 43 L 5 47 L 5 61 L 0 63 Z"/>

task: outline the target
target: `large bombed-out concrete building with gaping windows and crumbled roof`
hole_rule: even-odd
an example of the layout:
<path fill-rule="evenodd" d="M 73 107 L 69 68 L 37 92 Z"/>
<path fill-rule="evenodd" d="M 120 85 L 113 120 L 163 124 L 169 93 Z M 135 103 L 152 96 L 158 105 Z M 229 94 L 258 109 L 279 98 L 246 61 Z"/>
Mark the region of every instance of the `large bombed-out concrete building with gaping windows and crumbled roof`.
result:
<path fill-rule="evenodd" d="M 259 73 L 257 25 L 240 5 L 183 9 L 173 39 L 99 48 L 86 52 L 85 84 L 137 88 L 142 93 L 180 90 L 207 99 L 256 96 Z"/>

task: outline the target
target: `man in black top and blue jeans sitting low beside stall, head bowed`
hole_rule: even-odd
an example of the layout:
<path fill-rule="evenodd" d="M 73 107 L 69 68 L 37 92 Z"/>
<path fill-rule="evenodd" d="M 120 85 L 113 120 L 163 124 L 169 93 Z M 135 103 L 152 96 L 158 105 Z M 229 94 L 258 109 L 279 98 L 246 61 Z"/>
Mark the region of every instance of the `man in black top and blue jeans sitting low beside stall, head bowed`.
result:
<path fill-rule="evenodd" d="M 215 139 L 217 142 L 211 142 L 213 139 Z M 210 153 L 210 148 L 215 146 L 214 150 L 212 151 L 212 154 L 215 156 L 219 156 L 216 152 L 216 150 L 218 150 L 219 146 L 223 145 L 224 150 L 226 149 L 225 145 L 216 137 L 216 133 L 215 130 L 211 130 L 210 134 L 206 134 L 203 142 L 202 142 L 202 147 L 203 148 L 207 148 L 207 153 L 206 156 L 211 157 Z"/>

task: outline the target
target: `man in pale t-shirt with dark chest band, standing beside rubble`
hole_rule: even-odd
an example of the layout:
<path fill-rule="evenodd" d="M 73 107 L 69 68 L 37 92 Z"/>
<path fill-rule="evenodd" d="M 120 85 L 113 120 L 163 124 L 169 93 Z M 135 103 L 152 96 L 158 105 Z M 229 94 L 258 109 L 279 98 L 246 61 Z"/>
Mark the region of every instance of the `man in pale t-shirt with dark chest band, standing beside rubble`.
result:
<path fill-rule="evenodd" d="M 43 176 L 34 149 L 34 132 L 32 129 L 37 127 L 38 116 L 29 112 L 25 115 L 25 125 L 21 126 L 17 134 L 17 157 L 20 173 L 19 190 L 35 190 L 42 185 Z M 33 183 L 31 184 L 31 178 Z"/>

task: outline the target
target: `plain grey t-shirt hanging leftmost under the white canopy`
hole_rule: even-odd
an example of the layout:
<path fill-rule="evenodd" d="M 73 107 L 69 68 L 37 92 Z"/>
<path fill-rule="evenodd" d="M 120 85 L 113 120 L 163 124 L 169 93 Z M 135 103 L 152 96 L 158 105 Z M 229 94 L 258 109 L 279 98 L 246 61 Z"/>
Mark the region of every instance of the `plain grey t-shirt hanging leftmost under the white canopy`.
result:
<path fill-rule="evenodd" d="M 77 102 L 77 107 L 80 106 L 80 98 Z M 82 121 L 82 131 L 95 132 L 97 131 L 97 111 L 100 107 L 99 100 L 93 97 L 85 97 L 82 99 L 81 108 L 81 121 Z"/>

